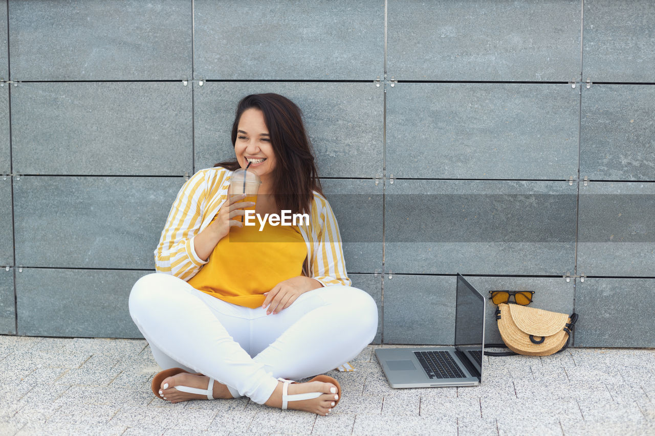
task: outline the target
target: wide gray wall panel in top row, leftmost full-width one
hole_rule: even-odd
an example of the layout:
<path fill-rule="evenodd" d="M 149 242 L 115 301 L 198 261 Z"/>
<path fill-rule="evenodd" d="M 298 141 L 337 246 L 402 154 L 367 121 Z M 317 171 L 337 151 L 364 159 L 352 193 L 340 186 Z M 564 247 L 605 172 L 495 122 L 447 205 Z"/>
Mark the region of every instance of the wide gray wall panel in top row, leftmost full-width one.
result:
<path fill-rule="evenodd" d="M 191 79 L 192 19 L 189 0 L 10 0 L 12 80 Z"/>

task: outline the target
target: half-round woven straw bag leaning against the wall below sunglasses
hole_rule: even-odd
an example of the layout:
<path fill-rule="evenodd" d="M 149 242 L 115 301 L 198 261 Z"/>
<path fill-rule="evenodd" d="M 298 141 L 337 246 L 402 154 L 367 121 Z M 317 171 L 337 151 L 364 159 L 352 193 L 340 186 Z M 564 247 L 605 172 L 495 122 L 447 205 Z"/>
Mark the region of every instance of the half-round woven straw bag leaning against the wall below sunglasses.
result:
<path fill-rule="evenodd" d="M 498 304 L 498 330 L 507 348 L 518 354 L 550 355 L 569 346 L 578 314 L 558 314 L 519 304 Z"/>

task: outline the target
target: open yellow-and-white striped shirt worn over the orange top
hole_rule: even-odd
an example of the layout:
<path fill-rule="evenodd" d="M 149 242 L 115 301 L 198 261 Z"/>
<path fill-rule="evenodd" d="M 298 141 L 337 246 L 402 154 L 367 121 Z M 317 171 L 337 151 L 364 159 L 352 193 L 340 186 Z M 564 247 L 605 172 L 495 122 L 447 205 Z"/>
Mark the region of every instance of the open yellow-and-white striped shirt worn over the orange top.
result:
<path fill-rule="evenodd" d="M 157 271 L 188 281 L 207 263 L 196 254 L 193 238 L 227 200 L 231 174 L 221 167 L 200 170 L 180 189 L 155 250 Z M 307 245 L 305 274 L 324 286 L 349 286 L 339 226 L 324 196 L 314 192 L 309 226 L 299 228 Z"/>

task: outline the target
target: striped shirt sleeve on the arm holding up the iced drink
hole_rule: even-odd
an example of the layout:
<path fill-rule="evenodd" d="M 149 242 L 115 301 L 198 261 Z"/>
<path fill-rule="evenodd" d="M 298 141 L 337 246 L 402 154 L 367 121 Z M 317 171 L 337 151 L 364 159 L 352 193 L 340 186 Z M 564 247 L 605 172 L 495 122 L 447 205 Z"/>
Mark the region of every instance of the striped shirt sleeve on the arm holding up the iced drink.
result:
<path fill-rule="evenodd" d="M 205 173 L 197 172 L 180 189 L 155 250 L 157 271 L 189 280 L 207 263 L 193 246 L 202 224 L 207 185 Z"/>

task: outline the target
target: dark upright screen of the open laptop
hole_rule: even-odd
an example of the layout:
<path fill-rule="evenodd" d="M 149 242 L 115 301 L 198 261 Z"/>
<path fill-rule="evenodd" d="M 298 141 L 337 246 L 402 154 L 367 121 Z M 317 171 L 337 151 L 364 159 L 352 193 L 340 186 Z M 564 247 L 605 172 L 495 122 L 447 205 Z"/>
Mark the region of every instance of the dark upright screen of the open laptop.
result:
<path fill-rule="evenodd" d="M 485 298 L 470 283 L 457 274 L 457 304 L 455 306 L 455 348 L 482 366 Z"/>

